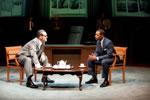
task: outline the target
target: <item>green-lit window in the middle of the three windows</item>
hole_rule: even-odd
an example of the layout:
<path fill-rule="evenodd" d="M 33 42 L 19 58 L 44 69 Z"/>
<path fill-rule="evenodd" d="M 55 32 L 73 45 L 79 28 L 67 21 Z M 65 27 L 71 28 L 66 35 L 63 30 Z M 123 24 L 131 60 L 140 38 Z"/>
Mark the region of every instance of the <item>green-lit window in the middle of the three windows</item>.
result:
<path fill-rule="evenodd" d="M 50 0 L 50 18 L 87 17 L 87 0 Z"/>

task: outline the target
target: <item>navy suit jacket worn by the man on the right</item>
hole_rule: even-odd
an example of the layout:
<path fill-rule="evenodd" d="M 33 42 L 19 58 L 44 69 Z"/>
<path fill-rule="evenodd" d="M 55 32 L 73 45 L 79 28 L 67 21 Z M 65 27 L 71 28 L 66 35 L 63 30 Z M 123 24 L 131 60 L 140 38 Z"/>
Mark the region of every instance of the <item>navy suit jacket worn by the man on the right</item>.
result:
<path fill-rule="evenodd" d="M 97 40 L 96 51 L 94 52 L 94 54 L 97 57 L 99 57 L 99 60 L 112 58 L 113 57 L 112 53 L 116 53 L 113 42 L 106 37 L 104 37 L 103 40 L 102 54 L 99 53 L 99 45 L 100 45 L 100 40 Z"/>

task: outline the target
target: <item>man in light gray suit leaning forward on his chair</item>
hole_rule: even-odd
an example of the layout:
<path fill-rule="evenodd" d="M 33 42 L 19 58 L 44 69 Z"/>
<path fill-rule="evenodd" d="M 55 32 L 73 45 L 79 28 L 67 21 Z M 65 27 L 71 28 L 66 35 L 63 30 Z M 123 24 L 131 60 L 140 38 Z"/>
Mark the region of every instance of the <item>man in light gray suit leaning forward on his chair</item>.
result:
<path fill-rule="evenodd" d="M 37 36 L 26 43 L 23 48 L 18 52 L 18 62 L 24 66 L 27 82 L 26 86 L 30 88 L 38 88 L 32 82 L 31 77 L 33 76 L 32 66 L 36 68 L 49 66 L 48 58 L 44 53 L 45 42 L 47 42 L 47 33 L 45 30 L 40 29 L 37 31 Z M 43 73 L 47 75 L 46 73 Z M 43 77 L 42 77 L 43 81 Z M 53 80 L 46 78 L 47 82 L 53 83 Z"/>

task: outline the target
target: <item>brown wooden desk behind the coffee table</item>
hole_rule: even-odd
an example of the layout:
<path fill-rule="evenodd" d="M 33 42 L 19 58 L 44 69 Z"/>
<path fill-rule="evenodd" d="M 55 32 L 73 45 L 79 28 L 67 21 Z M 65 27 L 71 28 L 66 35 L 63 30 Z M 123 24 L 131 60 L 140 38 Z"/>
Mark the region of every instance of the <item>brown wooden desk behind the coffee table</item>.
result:
<path fill-rule="evenodd" d="M 88 55 L 95 51 L 95 45 L 46 45 L 45 53 L 49 63 L 57 64 L 59 60 L 67 60 L 71 66 L 84 63 L 87 66 Z"/>

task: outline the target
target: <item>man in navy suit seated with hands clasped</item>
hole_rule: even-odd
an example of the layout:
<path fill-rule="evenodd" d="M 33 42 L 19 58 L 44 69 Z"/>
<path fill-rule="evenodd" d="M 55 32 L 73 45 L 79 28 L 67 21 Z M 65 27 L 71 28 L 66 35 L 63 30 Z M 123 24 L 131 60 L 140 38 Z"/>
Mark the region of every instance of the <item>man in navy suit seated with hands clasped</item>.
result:
<path fill-rule="evenodd" d="M 95 73 L 95 64 L 100 64 L 102 65 L 102 78 L 104 78 L 104 82 L 100 87 L 106 87 L 109 85 L 109 67 L 114 61 L 112 53 L 116 53 L 113 42 L 106 38 L 104 34 L 105 31 L 103 29 L 99 29 L 95 33 L 95 39 L 97 40 L 96 51 L 89 55 L 88 58 L 88 67 L 91 68 L 91 70 L 88 71 L 88 74 L 92 75 L 92 78 L 86 82 L 86 84 L 98 83 Z M 117 58 L 117 62 L 119 62 L 119 57 Z"/>

